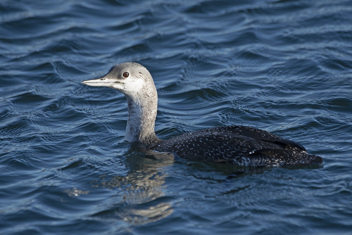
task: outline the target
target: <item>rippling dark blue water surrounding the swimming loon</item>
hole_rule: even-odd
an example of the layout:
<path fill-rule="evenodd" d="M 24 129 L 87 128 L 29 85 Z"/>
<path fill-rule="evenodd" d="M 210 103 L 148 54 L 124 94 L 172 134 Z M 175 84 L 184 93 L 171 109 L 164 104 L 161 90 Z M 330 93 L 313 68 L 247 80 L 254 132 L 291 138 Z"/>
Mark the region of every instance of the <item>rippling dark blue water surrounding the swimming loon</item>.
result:
<path fill-rule="evenodd" d="M 255 126 L 323 167 L 145 158 L 80 84 L 129 61 L 159 137 Z M 0 234 L 352 234 L 352 1 L 1 0 L 0 72 Z"/>

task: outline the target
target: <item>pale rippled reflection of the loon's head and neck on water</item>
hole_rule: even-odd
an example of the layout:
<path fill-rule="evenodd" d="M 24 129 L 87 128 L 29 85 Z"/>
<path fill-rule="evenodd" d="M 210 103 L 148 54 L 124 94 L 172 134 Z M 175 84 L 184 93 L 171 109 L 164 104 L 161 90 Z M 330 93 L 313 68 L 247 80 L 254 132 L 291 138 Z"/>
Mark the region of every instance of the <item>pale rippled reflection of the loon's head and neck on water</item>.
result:
<path fill-rule="evenodd" d="M 125 175 L 115 175 L 111 179 L 101 177 L 94 187 L 118 188 L 120 202 L 112 203 L 110 208 L 92 216 L 116 218 L 131 225 L 155 222 L 169 216 L 173 209 L 171 199 L 165 196 L 163 169 L 171 166 L 174 156 L 169 153 L 142 152 L 131 147 L 126 156 Z"/>

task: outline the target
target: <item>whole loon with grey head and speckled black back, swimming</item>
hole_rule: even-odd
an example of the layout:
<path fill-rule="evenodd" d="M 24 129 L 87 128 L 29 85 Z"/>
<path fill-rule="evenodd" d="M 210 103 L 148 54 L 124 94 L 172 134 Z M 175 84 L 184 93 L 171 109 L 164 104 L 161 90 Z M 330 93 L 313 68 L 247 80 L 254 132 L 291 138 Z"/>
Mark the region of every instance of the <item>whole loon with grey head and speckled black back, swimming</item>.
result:
<path fill-rule="evenodd" d="M 220 126 L 159 139 L 154 131 L 158 95 L 152 76 L 141 64 L 118 64 L 106 75 L 82 83 L 111 87 L 125 95 L 128 108 L 125 140 L 147 149 L 176 153 L 188 160 L 244 167 L 322 165 L 321 157 L 309 155 L 300 144 L 248 126 Z"/>

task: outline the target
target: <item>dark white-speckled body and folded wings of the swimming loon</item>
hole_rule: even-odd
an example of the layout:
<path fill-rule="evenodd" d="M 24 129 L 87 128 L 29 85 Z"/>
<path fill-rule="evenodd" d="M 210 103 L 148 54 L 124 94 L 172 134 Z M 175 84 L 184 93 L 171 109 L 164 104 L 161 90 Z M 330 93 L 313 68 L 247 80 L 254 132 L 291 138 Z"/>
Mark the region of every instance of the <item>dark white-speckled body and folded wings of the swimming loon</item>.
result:
<path fill-rule="evenodd" d="M 306 165 L 320 157 L 300 144 L 248 126 L 221 126 L 173 137 L 153 147 L 189 160 L 238 165 Z M 310 160 L 308 160 L 310 159 Z M 299 164 L 300 163 L 300 164 Z M 308 163 L 310 164 L 310 163 Z"/>

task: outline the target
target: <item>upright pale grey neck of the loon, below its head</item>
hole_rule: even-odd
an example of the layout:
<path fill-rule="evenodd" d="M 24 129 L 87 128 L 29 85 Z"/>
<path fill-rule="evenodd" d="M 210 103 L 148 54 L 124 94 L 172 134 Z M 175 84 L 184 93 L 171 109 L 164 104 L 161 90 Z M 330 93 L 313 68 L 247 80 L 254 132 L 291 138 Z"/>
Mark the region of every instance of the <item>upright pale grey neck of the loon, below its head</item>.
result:
<path fill-rule="evenodd" d="M 125 140 L 150 146 L 159 142 L 154 132 L 158 106 L 155 87 L 140 95 L 126 95 L 128 117 Z"/>

